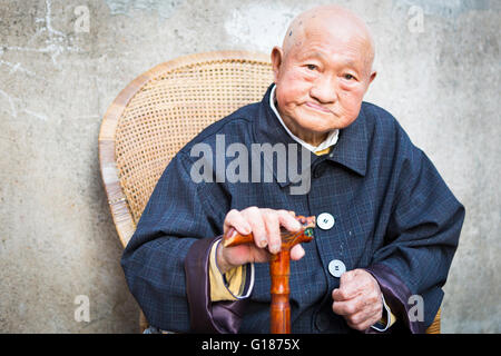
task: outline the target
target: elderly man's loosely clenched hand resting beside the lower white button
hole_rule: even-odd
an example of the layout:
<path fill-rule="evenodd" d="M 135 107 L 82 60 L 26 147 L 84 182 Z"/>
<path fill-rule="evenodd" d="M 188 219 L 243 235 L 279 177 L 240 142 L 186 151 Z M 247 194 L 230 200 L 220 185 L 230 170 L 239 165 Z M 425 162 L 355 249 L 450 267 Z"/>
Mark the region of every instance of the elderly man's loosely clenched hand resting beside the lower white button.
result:
<path fill-rule="evenodd" d="M 363 332 L 381 320 L 383 296 L 377 280 L 363 269 L 353 269 L 341 276 L 340 288 L 332 291 L 332 309 L 347 325 Z"/>

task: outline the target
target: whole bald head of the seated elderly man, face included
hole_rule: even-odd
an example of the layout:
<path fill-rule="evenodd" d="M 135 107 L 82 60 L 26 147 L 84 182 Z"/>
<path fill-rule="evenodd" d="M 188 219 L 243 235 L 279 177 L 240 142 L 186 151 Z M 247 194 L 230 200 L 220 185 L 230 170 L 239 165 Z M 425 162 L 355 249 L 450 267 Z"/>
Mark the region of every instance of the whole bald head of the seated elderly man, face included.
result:
<path fill-rule="evenodd" d="M 291 132 L 312 146 L 356 120 L 376 77 L 366 24 L 336 6 L 295 18 L 271 57 L 277 110 Z"/>

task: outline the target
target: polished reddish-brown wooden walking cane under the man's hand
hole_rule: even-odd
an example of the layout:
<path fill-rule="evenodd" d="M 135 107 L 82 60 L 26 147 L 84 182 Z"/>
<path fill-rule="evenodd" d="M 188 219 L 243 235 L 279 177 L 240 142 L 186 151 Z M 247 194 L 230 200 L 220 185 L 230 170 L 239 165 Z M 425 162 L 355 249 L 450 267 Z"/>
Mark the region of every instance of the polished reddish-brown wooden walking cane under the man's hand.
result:
<path fill-rule="evenodd" d="M 272 278 L 269 319 L 272 334 L 291 334 L 291 305 L 288 303 L 291 293 L 288 287 L 291 249 L 297 244 L 313 240 L 315 217 L 297 216 L 296 219 L 301 222 L 302 228 L 296 233 L 289 233 L 284 228 L 281 229 L 281 251 L 273 255 L 269 261 L 269 276 Z M 232 247 L 250 243 L 254 243 L 253 234 L 240 235 L 234 228 L 230 228 L 224 237 L 223 246 Z"/>

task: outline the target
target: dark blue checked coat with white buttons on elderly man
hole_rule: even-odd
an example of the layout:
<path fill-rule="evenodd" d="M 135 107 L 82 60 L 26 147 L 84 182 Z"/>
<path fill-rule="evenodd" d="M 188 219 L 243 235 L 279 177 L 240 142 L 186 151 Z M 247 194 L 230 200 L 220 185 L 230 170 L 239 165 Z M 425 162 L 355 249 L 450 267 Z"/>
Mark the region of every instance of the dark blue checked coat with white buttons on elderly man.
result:
<path fill-rule="evenodd" d="M 269 91 L 262 102 L 206 128 L 159 179 L 121 260 L 147 319 L 174 332 L 269 332 L 267 264 L 256 264 L 247 300 L 208 299 L 207 256 L 222 235 L 225 215 L 257 206 L 304 216 L 328 212 L 335 219 L 330 230 L 316 228 L 314 241 L 303 245 L 305 257 L 291 264 L 293 333 L 350 330 L 331 308 L 332 289 L 340 283 L 328 273 L 333 259 L 342 260 L 347 270 L 369 270 L 400 323 L 411 332 L 424 332 L 443 298 L 464 208 L 385 110 L 363 102 L 331 155 L 311 154 L 308 194 L 291 195 L 294 184 L 288 179 L 194 182 L 190 172 L 198 156 L 191 157 L 191 148 L 205 142 L 216 152 L 216 135 L 224 135 L 226 147 L 240 142 L 249 151 L 252 144 L 295 142 L 274 116 Z M 234 159 L 226 157 L 226 164 Z M 267 164 L 276 174 L 276 164 Z M 409 319 L 412 295 L 423 298 L 422 323 Z"/>

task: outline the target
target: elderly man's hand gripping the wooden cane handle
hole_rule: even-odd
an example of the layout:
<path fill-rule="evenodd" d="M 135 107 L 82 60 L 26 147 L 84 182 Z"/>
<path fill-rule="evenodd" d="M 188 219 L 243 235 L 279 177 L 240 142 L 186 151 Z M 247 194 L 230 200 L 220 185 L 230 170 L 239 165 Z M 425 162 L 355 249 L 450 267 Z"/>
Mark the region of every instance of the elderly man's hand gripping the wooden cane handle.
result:
<path fill-rule="evenodd" d="M 230 210 L 224 221 L 224 234 L 235 228 L 242 235 L 253 234 L 254 244 L 224 247 L 219 244 L 216 256 L 222 273 L 248 263 L 269 261 L 272 254 L 282 248 L 281 227 L 291 233 L 301 229 L 294 212 L 287 210 L 259 209 L 249 207 L 242 211 Z M 296 245 L 291 249 L 291 258 L 298 260 L 304 256 L 304 249 Z"/>

